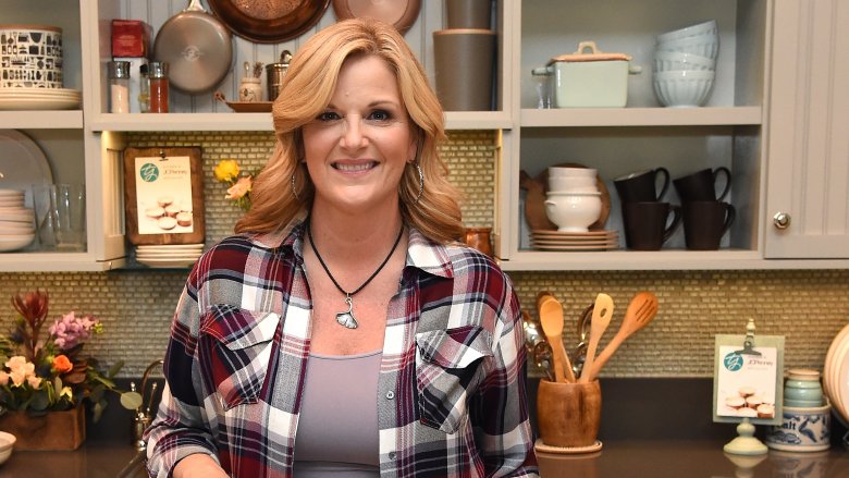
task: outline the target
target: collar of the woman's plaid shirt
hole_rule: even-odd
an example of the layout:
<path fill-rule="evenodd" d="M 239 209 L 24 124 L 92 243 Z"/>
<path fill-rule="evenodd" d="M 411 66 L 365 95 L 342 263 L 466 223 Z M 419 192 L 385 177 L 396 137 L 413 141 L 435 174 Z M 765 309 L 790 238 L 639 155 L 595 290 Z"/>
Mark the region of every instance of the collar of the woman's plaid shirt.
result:
<path fill-rule="evenodd" d="M 284 254 L 294 253 L 303 259 L 306 218 L 306 212 L 300 212 L 288 224 L 275 231 L 257 234 L 254 241 L 260 246 L 279 249 Z M 415 228 L 409 228 L 406 267 L 442 278 L 454 277 L 454 268 L 446 247 L 432 242 Z"/>

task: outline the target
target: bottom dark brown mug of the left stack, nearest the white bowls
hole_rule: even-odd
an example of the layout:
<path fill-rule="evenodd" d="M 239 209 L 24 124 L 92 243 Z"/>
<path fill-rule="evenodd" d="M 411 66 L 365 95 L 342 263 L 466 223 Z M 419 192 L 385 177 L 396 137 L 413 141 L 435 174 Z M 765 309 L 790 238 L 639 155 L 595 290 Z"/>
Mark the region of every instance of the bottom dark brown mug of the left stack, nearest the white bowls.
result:
<path fill-rule="evenodd" d="M 635 250 L 660 250 L 681 222 L 681 208 L 669 203 L 625 203 L 622 212 L 625 245 Z"/>

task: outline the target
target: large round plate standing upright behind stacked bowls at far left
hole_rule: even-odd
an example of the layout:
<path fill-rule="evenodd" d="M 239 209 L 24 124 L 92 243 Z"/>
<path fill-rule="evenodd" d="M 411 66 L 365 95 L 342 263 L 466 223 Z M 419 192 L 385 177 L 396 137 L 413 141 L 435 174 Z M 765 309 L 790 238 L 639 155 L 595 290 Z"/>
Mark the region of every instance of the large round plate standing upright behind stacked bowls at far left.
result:
<path fill-rule="evenodd" d="M 0 187 L 24 192 L 24 204 L 33 207 L 33 184 L 52 184 L 53 173 L 45 152 L 16 130 L 0 130 Z"/>

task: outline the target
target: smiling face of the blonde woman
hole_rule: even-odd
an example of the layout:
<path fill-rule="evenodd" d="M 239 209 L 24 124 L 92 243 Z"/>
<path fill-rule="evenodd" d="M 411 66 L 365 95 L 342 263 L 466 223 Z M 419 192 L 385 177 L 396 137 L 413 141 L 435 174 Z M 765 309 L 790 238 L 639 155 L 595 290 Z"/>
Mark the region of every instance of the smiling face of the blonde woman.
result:
<path fill-rule="evenodd" d="M 416 154 L 410 126 L 386 63 L 347 59 L 330 105 L 303 128 L 313 206 L 362 212 L 397 205 L 404 167 Z"/>

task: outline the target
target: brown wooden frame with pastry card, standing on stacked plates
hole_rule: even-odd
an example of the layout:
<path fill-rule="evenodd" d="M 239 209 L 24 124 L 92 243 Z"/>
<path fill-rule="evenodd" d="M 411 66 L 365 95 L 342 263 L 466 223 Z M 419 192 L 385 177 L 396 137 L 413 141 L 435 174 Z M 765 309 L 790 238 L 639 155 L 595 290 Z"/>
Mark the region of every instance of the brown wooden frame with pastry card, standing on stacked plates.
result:
<path fill-rule="evenodd" d="M 126 236 L 135 245 L 198 244 L 206 236 L 200 147 L 126 148 Z"/>

